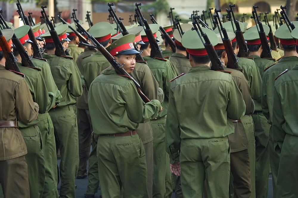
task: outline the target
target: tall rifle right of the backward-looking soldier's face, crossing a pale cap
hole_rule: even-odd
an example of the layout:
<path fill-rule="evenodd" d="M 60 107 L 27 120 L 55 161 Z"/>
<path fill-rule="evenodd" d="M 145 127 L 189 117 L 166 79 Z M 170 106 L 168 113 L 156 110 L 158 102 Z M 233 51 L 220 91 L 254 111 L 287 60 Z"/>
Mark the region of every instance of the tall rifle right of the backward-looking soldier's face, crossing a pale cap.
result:
<path fill-rule="evenodd" d="M 150 46 L 151 46 L 151 52 L 150 52 L 150 57 L 151 58 L 160 58 L 163 59 L 164 56 L 162 55 L 162 52 L 160 51 L 160 47 L 157 44 L 157 41 L 155 39 L 155 37 L 153 36 L 153 33 L 150 29 L 150 26 L 148 24 L 148 21 L 144 18 L 144 16 L 142 15 L 141 9 L 139 6 L 141 6 L 141 3 L 136 3 L 136 14 L 138 15 L 139 18 L 139 22 L 142 24 L 142 26 L 144 27 L 146 36 L 148 37 Z"/>

